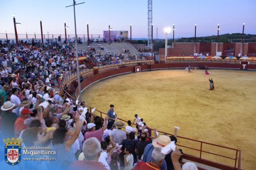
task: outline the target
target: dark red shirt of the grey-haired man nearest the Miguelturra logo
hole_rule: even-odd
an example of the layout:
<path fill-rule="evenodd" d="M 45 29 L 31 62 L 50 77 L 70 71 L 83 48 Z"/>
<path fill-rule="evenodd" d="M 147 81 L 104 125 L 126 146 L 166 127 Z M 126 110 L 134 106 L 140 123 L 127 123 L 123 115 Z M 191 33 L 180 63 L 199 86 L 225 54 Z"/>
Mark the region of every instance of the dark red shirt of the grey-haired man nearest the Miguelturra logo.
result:
<path fill-rule="evenodd" d="M 73 161 L 68 167 L 69 170 L 107 170 L 103 164 L 97 161 Z"/>

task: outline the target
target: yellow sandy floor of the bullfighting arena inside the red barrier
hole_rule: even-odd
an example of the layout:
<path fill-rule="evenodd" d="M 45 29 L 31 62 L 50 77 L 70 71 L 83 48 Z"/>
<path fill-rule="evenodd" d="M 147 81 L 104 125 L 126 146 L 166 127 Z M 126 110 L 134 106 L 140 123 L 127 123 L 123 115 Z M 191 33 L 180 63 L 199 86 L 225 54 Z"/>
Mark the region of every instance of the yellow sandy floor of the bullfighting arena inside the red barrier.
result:
<path fill-rule="evenodd" d="M 151 128 L 178 136 L 240 149 L 241 168 L 256 169 L 256 72 L 209 70 L 164 70 L 127 74 L 98 82 L 86 89 L 87 105 L 107 112 L 115 105 L 119 118 L 134 119 L 134 113 Z M 209 91 L 209 77 L 215 89 Z M 196 142 L 178 138 L 177 144 L 200 149 Z M 235 152 L 203 144 L 203 150 L 235 158 Z M 199 156 L 183 148 L 184 153 Z M 202 158 L 235 162 L 202 153 Z"/>

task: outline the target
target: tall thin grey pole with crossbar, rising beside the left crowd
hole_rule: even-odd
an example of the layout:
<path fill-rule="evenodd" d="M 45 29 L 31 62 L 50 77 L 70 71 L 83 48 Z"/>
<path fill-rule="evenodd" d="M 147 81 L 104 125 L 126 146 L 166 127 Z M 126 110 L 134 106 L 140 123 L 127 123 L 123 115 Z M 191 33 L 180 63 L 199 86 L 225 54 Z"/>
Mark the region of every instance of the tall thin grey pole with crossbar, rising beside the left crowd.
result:
<path fill-rule="evenodd" d="M 75 34 L 76 34 L 76 10 L 75 10 L 75 6 L 76 5 L 79 5 L 79 4 L 82 4 L 82 3 L 78 3 L 76 4 L 76 1 L 73 0 L 73 6 L 74 7 L 74 22 L 75 22 Z M 69 7 L 69 6 L 66 6 L 66 7 Z M 77 73 L 77 82 L 78 82 L 78 100 L 79 102 L 82 101 L 82 98 L 81 98 L 81 82 L 80 82 L 80 71 L 79 71 L 79 58 L 78 58 L 78 52 L 77 52 L 77 34 L 76 34 L 76 73 Z"/>

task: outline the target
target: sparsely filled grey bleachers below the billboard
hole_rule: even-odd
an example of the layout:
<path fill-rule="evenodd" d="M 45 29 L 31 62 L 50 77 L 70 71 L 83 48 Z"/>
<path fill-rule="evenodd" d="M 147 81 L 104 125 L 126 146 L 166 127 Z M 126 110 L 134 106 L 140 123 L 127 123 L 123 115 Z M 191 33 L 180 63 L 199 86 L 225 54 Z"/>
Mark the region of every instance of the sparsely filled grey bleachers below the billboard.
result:
<path fill-rule="evenodd" d="M 100 50 L 100 45 L 103 45 L 104 50 Z M 108 52 L 113 52 L 113 54 L 120 54 L 123 53 L 123 48 L 129 49 L 130 54 L 133 55 L 137 55 L 139 53 L 139 51 L 130 43 L 127 42 L 122 42 L 122 43 L 111 43 L 111 45 L 109 45 L 108 43 L 91 43 L 90 44 L 90 48 L 95 48 L 96 51 L 101 51 L 101 53 L 107 54 Z M 77 45 L 77 49 L 78 50 L 87 50 L 88 46 L 87 44 L 78 44 Z M 125 53 L 125 57 L 127 57 L 128 54 Z"/>

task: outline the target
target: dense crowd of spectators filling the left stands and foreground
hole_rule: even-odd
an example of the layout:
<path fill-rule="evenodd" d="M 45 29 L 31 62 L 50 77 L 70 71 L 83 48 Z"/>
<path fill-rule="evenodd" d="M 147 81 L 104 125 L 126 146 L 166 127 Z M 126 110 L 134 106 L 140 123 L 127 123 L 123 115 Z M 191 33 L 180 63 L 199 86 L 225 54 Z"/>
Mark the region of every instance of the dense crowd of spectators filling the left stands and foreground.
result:
<path fill-rule="evenodd" d="M 94 50 L 88 51 L 93 54 Z M 156 129 L 153 136 L 138 114 L 134 115 L 136 124 L 128 121 L 125 127 L 124 122 L 118 121 L 113 105 L 102 121 L 84 102 L 54 91 L 67 71 L 76 66 L 69 57 L 72 53 L 72 45 L 51 40 L 44 45 L 35 41 L 18 46 L 10 41 L 0 42 L 0 137 L 23 139 L 22 147 L 30 147 L 30 151 L 38 151 L 34 147 L 41 146 L 55 151 L 51 155 L 22 152 L 23 158 L 56 160 L 21 160 L 17 166 L 54 170 L 181 170 L 181 150 L 161 152 L 171 141 L 177 142 L 175 136 L 158 136 Z M 19 73 L 15 73 L 17 69 Z M 67 85 L 64 90 L 68 90 Z M 197 168 L 186 163 L 183 169 Z"/>

